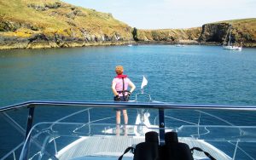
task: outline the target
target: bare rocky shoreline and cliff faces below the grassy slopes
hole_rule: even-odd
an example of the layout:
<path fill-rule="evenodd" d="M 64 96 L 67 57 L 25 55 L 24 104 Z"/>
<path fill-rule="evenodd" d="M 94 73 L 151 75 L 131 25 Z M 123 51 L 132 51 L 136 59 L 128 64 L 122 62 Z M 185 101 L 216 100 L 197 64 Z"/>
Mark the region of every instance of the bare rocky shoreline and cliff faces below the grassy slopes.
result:
<path fill-rule="evenodd" d="M 93 35 L 84 33 L 82 37 L 73 35 L 81 34 L 81 31 L 71 35 L 44 33 L 32 34 L 29 37 L 4 36 L 0 32 L 0 49 L 49 49 L 49 48 L 73 48 L 102 45 L 125 45 L 134 44 L 195 44 L 195 45 L 222 45 L 227 34 L 228 23 L 207 24 L 201 28 L 187 30 L 137 30 L 134 28 L 128 36 L 119 33 L 113 36 L 107 34 Z M 179 31 L 179 32 L 178 32 Z M 253 39 L 246 39 L 239 31 L 231 35 L 233 43 L 243 47 L 256 47 Z"/>

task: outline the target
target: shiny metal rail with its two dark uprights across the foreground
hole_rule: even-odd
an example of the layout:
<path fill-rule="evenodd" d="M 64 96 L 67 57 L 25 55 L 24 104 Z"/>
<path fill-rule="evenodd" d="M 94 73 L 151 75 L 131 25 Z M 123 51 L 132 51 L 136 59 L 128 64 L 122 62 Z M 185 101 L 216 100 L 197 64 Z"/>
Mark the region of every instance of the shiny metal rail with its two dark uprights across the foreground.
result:
<path fill-rule="evenodd" d="M 125 108 L 150 108 L 159 111 L 159 128 L 160 141 L 165 139 L 165 110 L 183 109 L 183 110 L 232 110 L 232 111 L 256 111 L 256 106 L 227 106 L 227 105 L 177 105 L 172 103 L 152 101 L 148 103 L 142 102 L 106 102 L 106 101 L 60 101 L 60 100 L 32 100 L 12 106 L 4 106 L 0 108 L 0 113 L 7 117 L 6 111 L 19 110 L 21 108 L 28 108 L 28 117 L 26 121 L 25 140 L 30 139 L 29 132 L 32 129 L 33 117 L 35 108 L 41 106 L 79 106 L 79 107 L 94 107 L 94 108 L 111 108 L 111 107 L 125 107 Z M 10 120 L 11 121 L 11 120 Z M 9 155 L 5 156 L 8 157 Z M 27 157 L 26 157 L 27 158 Z M 4 157 L 3 157 L 4 159 Z"/>

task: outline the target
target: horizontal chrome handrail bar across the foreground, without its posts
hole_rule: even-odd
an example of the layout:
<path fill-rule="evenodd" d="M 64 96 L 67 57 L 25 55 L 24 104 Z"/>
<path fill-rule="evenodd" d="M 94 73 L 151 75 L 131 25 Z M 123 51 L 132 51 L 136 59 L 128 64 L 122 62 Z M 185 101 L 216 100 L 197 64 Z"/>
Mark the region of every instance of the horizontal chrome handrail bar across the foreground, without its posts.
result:
<path fill-rule="evenodd" d="M 239 105 L 199 105 L 199 104 L 172 104 L 169 102 L 113 102 L 113 101 L 65 101 L 65 100 L 32 100 L 12 106 L 0 107 L 0 112 L 32 106 L 90 106 L 90 107 L 126 107 L 126 108 L 154 108 L 154 109 L 201 109 L 201 110 L 244 110 L 256 111 L 256 106 Z"/>

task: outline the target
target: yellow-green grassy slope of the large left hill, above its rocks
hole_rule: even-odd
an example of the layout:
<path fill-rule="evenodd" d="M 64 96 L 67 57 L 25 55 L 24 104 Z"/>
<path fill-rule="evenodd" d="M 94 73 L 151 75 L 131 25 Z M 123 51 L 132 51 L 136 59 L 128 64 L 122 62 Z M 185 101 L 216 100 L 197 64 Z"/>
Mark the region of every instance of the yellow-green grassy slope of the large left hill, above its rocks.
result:
<path fill-rule="evenodd" d="M 82 28 L 83 31 L 94 35 L 104 33 L 112 36 L 118 32 L 123 37 L 131 36 L 131 27 L 115 20 L 111 14 L 96 12 L 94 9 L 84 9 L 59 0 L 1 0 L 0 22 L 16 26 L 22 24 L 21 27 L 17 27 L 17 31 L 6 32 L 9 36 L 19 32 L 23 32 L 24 37 L 35 32 L 45 34 L 58 32 L 64 35 L 75 32 L 79 34 Z M 30 28 L 36 29 L 27 31 Z M 82 37 L 82 35 L 75 36 Z"/>

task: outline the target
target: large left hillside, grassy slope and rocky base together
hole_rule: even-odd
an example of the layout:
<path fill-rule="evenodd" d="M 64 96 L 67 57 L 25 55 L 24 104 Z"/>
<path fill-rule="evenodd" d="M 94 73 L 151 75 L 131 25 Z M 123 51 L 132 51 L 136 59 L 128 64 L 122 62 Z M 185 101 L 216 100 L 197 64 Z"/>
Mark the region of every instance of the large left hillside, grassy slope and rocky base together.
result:
<path fill-rule="evenodd" d="M 112 14 L 58 0 L 0 2 L 0 49 L 121 44 L 133 39 L 131 31 Z"/>

